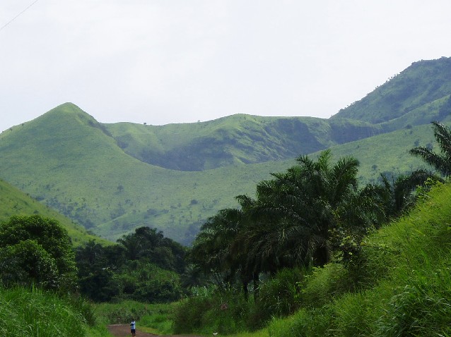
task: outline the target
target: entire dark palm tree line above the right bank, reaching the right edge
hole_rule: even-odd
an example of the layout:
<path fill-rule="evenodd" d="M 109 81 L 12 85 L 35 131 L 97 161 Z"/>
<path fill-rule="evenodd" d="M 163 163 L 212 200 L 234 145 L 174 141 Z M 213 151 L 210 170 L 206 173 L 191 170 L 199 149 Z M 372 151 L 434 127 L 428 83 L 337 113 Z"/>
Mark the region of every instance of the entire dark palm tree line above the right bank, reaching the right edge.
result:
<path fill-rule="evenodd" d="M 451 132 L 433 122 L 436 154 L 429 147 L 410 153 L 437 173 L 418 169 L 389 180 L 358 186 L 358 160 L 332 162 L 326 150 L 257 185 L 256 197 L 236 197 L 239 207 L 212 216 L 194 240 L 192 262 L 223 287 L 240 284 L 258 296 L 259 278 L 285 268 L 355 263 L 362 238 L 401 215 L 416 201 L 417 189 L 451 173 Z M 252 284 L 252 286 L 250 286 Z"/>

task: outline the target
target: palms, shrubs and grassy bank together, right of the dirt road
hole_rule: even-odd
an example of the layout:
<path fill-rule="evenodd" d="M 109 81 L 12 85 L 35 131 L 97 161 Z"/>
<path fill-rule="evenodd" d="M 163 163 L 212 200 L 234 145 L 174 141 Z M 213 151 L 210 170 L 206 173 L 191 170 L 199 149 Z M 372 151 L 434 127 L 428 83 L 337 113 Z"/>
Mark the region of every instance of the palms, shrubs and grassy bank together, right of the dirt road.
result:
<path fill-rule="evenodd" d="M 433 125 L 441 154 L 411 152 L 448 176 L 451 130 Z M 358 190 L 356 161 L 329 158 L 300 157 L 201 228 L 192 258 L 216 286 L 181 303 L 175 331 L 449 336 L 450 183 L 418 170 Z"/>

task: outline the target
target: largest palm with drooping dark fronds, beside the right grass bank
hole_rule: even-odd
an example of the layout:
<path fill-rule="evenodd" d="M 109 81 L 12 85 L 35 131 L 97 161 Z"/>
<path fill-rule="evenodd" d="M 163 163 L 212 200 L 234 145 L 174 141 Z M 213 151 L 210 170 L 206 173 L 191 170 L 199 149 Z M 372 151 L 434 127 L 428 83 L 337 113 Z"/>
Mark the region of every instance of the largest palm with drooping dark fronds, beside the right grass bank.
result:
<path fill-rule="evenodd" d="M 331 157 L 329 150 L 317 161 L 299 157 L 298 165 L 257 185 L 252 218 L 258 225 L 251 251 L 261 261 L 269 259 L 270 272 L 295 264 L 322 265 L 330 258 L 332 228 L 348 223 L 365 228 L 374 221 L 368 216 L 372 199 L 358 197 L 358 161 L 345 157 L 332 165 Z"/>

